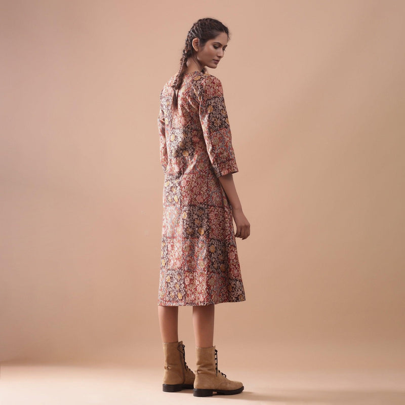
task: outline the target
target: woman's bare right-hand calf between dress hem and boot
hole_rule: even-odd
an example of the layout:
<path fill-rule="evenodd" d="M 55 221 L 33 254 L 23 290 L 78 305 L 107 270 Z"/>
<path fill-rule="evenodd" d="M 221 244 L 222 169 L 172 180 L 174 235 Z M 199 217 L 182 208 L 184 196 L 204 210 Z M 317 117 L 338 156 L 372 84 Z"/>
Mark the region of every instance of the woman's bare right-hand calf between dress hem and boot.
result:
<path fill-rule="evenodd" d="M 214 346 L 215 305 L 193 306 L 193 326 L 196 347 Z"/>

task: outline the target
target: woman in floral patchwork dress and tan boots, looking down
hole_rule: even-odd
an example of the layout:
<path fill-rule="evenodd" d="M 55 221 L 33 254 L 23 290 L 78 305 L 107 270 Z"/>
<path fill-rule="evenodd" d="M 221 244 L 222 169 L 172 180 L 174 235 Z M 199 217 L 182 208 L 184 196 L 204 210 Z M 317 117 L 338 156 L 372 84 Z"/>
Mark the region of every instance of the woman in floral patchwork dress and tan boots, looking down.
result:
<path fill-rule="evenodd" d="M 237 394 L 244 386 L 218 371 L 214 305 L 245 301 L 235 237 L 250 224 L 235 189 L 231 132 L 216 69 L 228 28 L 204 18 L 187 34 L 180 70 L 160 93 L 160 161 L 165 173 L 158 316 L 165 353 L 163 390 L 194 396 Z M 233 233 L 233 220 L 236 232 Z M 178 308 L 193 306 L 196 374 L 178 339 Z"/>

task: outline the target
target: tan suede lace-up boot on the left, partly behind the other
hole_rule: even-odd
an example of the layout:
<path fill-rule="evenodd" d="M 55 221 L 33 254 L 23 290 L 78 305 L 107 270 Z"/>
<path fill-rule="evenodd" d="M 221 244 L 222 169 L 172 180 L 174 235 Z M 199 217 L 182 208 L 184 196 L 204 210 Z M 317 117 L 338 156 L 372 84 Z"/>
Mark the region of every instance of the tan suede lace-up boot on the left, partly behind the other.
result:
<path fill-rule="evenodd" d="M 164 343 L 163 351 L 165 352 L 163 390 L 176 392 L 192 389 L 195 375 L 186 365 L 183 342 Z"/>

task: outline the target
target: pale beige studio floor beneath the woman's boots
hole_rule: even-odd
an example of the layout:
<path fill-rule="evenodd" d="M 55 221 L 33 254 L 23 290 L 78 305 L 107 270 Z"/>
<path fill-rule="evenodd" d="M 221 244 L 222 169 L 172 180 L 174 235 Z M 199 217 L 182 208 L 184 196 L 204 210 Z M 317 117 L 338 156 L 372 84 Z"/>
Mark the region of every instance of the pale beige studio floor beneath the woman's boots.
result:
<path fill-rule="evenodd" d="M 405 404 L 405 372 L 395 370 L 228 370 L 244 382 L 233 396 L 193 397 L 192 390 L 161 391 L 158 368 L 2 363 L 2 405 L 135 404 Z"/>

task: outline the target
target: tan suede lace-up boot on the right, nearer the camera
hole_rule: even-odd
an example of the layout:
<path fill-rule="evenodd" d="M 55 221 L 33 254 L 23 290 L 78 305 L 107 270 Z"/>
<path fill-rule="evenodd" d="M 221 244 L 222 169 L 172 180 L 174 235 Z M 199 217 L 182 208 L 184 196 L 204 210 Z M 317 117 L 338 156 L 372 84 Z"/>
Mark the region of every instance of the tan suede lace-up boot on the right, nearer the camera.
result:
<path fill-rule="evenodd" d="M 213 347 L 197 347 L 197 373 L 194 381 L 194 396 L 212 396 L 217 394 L 233 395 L 244 390 L 239 381 L 230 381 L 218 370 L 218 350 Z"/>

